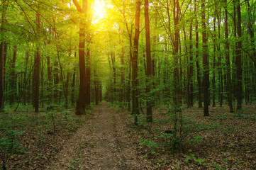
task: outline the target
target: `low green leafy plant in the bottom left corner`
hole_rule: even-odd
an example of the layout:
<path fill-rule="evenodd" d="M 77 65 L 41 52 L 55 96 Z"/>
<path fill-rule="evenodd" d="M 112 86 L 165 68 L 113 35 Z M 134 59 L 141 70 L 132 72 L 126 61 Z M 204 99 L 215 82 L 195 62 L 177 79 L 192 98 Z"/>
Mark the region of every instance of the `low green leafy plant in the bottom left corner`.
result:
<path fill-rule="evenodd" d="M 3 169 L 6 169 L 6 164 L 11 157 L 11 154 L 16 154 L 18 152 L 23 153 L 24 151 L 20 149 L 20 143 L 17 142 L 16 136 L 22 134 L 25 131 L 18 132 L 16 130 L 7 130 L 3 137 L 0 139 L 0 158 L 3 163 Z"/>

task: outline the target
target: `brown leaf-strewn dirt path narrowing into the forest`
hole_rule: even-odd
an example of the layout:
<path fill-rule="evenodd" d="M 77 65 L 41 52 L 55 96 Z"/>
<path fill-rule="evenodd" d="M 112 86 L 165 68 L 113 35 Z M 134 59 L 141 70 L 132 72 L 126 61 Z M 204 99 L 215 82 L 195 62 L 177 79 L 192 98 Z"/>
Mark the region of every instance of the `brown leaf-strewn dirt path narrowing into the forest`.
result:
<path fill-rule="evenodd" d="M 127 115 L 116 113 L 106 102 L 92 112 L 94 118 L 65 142 L 48 169 L 140 169 Z"/>

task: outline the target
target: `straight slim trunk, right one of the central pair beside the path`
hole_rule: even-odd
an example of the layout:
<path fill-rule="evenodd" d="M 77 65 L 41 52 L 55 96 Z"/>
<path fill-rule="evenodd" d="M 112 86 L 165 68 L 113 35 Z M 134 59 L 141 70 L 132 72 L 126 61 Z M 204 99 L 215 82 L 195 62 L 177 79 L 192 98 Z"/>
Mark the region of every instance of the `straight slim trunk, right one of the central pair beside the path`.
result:
<path fill-rule="evenodd" d="M 146 94 L 150 94 L 150 77 L 152 75 L 152 61 L 151 61 L 151 46 L 150 46 L 150 19 L 148 16 L 148 0 L 145 0 L 144 4 L 144 16 L 145 16 L 145 36 L 146 36 L 146 56 L 147 56 L 147 85 Z M 152 99 L 148 96 L 147 100 L 147 121 L 152 122 Z"/>

